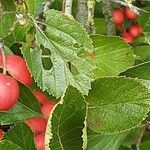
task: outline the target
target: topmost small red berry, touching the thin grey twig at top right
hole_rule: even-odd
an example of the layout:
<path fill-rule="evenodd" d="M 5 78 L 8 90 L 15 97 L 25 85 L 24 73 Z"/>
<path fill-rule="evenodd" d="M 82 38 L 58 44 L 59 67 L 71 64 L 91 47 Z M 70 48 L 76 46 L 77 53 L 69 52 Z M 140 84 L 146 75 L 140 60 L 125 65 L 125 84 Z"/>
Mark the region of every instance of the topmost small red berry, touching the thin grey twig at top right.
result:
<path fill-rule="evenodd" d="M 130 9 L 129 7 L 125 8 L 125 16 L 127 19 L 129 20 L 135 20 L 137 19 L 138 15 L 137 13 L 135 13 L 132 9 Z"/>

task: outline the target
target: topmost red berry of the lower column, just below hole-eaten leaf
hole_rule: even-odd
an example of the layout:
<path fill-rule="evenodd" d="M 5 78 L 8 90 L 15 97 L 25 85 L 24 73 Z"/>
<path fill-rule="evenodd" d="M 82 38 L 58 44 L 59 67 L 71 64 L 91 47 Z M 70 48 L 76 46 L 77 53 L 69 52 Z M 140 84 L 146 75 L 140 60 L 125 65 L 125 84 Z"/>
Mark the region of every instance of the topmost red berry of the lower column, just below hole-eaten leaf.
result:
<path fill-rule="evenodd" d="M 40 104 L 46 103 L 48 102 L 48 98 L 46 97 L 46 95 L 43 92 L 40 91 L 33 91 L 34 96 L 36 97 L 36 99 L 38 100 L 38 102 Z"/>

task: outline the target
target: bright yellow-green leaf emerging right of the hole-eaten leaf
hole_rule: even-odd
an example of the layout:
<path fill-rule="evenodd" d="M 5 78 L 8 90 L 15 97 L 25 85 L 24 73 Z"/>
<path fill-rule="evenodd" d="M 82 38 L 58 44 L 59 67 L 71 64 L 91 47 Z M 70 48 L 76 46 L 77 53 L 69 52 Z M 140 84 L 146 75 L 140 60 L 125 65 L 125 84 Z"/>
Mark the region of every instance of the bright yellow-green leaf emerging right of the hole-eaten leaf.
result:
<path fill-rule="evenodd" d="M 95 47 L 91 58 L 96 65 L 95 78 L 116 76 L 134 64 L 133 51 L 121 38 L 102 35 L 91 38 Z"/>

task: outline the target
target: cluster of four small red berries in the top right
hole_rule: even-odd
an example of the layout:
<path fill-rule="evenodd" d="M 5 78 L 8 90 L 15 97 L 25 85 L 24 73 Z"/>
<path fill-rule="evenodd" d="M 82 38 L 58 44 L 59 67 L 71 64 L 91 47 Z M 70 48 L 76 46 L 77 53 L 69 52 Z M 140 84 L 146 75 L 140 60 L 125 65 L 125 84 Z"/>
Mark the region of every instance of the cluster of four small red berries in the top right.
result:
<path fill-rule="evenodd" d="M 113 11 L 114 23 L 120 29 L 124 41 L 128 44 L 132 44 L 143 33 L 141 26 L 135 22 L 137 18 L 138 14 L 129 7 L 117 7 Z M 123 24 L 128 21 L 132 25 L 125 29 Z"/>

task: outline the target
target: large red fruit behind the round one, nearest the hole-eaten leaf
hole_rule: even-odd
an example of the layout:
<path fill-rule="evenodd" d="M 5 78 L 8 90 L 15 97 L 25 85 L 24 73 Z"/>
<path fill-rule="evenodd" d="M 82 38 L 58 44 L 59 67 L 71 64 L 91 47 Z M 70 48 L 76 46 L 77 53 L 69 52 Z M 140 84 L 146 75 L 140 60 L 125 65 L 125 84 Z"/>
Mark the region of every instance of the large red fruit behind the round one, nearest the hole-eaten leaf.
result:
<path fill-rule="evenodd" d="M 17 81 L 26 86 L 32 84 L 33 80 L 31 74 L 22 57 L 16 55 L 6 56 L 6 69 Z"/>

